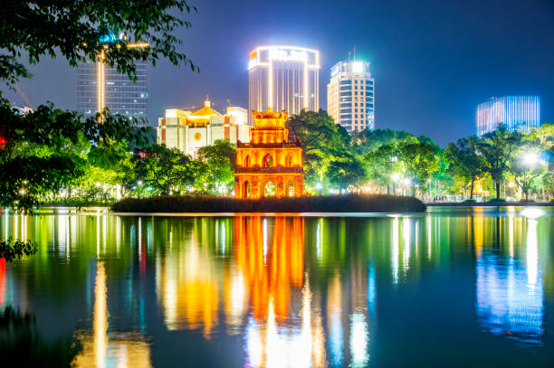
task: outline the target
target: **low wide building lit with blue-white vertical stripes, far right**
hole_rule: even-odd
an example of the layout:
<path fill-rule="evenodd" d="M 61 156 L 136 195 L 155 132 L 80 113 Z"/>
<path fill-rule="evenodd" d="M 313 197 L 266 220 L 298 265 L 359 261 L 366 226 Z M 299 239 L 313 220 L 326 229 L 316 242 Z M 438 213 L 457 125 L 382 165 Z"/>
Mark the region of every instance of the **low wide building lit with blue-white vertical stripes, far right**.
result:
<path fill-rule="evenodd" d="M 494 97 L 477 106 L 477 136 L 492 132 L 501 124 L 511 132 L 540 127 L 539 96 Z"/>

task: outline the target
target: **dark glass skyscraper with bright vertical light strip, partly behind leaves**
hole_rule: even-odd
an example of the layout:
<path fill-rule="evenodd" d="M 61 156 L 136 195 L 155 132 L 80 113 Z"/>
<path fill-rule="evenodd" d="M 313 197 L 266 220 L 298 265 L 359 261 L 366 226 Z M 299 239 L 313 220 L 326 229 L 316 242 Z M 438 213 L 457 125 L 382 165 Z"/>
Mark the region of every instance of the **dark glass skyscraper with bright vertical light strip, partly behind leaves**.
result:
<path fill-rule="evenodd" d="M 94 116 L 99 109 L 99 99 L 113 114 L 129 118 L 148 119 L 148 62 L 135 61 L 137 81 L 119 74 L 116 67 L 102 66 L 98 62 L 81 63 L 77 69 L 77 110 L 85 118 Z M 104 89 L 99 83 L 103 80 Z M 103 94 L 101 93 L 103 92 Z"/>

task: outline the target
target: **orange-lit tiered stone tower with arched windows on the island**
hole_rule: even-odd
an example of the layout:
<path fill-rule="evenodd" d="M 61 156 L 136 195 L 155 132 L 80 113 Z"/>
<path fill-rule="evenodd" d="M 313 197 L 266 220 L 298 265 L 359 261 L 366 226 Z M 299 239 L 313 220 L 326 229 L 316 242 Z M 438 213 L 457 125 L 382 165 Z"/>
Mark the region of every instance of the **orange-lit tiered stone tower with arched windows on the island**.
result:
<path fill-rule="evenodd" d="M 299 197 L 304 188 L 302 148 L 300 143 L 288 142 L 286 110 L 252 111 L 254 126 L 250 143 L 238 142 L 235 198 L 258 199 L 264 196 Z"/>

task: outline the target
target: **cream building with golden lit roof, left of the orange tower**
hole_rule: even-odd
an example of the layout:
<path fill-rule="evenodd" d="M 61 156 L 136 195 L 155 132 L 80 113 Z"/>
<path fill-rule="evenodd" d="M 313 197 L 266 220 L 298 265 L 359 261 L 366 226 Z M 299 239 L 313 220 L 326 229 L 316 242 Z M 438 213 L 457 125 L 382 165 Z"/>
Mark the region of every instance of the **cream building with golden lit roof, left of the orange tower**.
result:
<path fill-rule="evenodd" d="M 227 108 L 223 115 L 210 106 L 195 112 L 167 109 L 164 118 L 158 118 L 158 144 L 178 148 L 187 155 L 196 156 L 198 148 L 213 145 L 218 139 L 229 139 L 233 144 L 249 142 L 246 109 Z"/>

